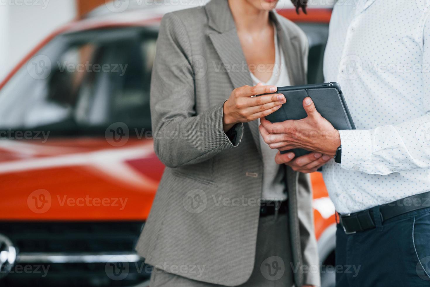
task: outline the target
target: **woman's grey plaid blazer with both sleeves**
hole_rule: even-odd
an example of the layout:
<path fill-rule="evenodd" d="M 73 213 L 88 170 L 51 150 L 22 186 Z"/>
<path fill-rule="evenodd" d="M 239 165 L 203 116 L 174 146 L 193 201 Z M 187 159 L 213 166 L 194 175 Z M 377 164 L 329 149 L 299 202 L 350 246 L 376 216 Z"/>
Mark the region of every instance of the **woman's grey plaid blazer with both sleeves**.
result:
<path fill-rule="evenodd" d="M 292 84 L 306 82 L 308 44 L 270 12 Z M 186 278 L 236 286 L 252 273 L 262 192 L 258 124 L 223 131 L 231 91 L 252 85 L 227 0 L 166 14 L 151 83 L 154 149 L 166 165 L 136 250 L 145 262 Z M 287 168 L 294 268 L 318 264 L 309 177 Z M 290 262 L 285 262 L 290 268 Z M 202 270 L 199 272 L 198 270 Z M 296 286 L 319 273 L 296 272 Z"/>

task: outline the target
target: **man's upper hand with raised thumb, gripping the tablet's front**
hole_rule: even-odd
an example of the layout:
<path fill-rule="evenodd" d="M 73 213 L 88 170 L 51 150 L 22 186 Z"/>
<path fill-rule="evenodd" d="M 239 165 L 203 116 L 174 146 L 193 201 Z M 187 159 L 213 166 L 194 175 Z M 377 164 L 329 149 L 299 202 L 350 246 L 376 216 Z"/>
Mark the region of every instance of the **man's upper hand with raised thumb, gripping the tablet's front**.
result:
<path fill-rule="evenodd" d="M 270 148 L 280 151 L 292 148 L 304 148 L 334 157 L 341 145 L 339 131 L 323 118 L 312 100 L 303 100 L 303 107 L 307 117 L 301 120 L 286 120 L 280 123 L 270 123 L 261 119 L 260 133 Z"/>

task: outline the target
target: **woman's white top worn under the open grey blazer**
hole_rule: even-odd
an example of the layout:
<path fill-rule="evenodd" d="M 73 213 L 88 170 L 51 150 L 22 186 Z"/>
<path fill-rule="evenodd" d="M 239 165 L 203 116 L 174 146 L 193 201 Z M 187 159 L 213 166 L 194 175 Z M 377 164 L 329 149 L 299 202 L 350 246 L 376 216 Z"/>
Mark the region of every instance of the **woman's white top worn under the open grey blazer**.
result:
<path fill-rule="evenodd" d="M 258 78 L 254 76 L 254 74 L 250 74 L 254 85 L 262 83 L 263 85 L 271 86 L 289 86 L 290 83 L 287 67 L 285 64 L 284 53 L 282 51 L 282 48 L 278 44 L 276 27 L 274 25 L 273 29 L 275 34 L 275 64 L 273 65 L 273 67 L 267 66 L 267 68 L 272 70 L 272 76 L 266 83 L 263 83 L 261 82 L 261 80 L 258 80 Z M 260 119 L 258 119 L 258 125 L 260 125 Z M 275 162 L 275 156 L 278 150 L 271 149 L 269 145 L 264 142 L 264 139 L 261 135 L 260 146 L 261 156 L 263 158 L 263 199 L 270 201 L 284 201 L 287 199 L 287 194 L 284 193 L 286 185 L 283 181 L 285 176 L 285 170 L 283 166 L 280 166 Z"/>

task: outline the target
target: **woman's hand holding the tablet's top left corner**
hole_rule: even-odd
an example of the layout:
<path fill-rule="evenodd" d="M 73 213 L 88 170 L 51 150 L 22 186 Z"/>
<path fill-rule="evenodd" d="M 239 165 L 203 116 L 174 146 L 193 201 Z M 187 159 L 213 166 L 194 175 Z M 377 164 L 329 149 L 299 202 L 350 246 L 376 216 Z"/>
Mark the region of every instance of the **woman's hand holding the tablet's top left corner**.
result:
<path fill-rule="evenodd" d="M 224 103 L 224 132 L 230 130 L 236 123 L 247 123 L 279 109 L 286 102 L 283 94 L 251 98 L 255 95 L 275 93 L 276 90 L 276 86 L 263 86 L 261 83 L 256 86 L 241 86 L 233 89 L 230 98 Z"/>

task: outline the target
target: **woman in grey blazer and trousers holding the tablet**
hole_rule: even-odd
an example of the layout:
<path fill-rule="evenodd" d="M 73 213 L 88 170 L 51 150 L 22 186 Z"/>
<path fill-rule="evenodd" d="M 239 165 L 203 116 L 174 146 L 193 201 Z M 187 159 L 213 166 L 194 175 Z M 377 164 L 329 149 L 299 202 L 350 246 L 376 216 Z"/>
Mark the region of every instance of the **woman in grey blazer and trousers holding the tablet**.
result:
<path fill-rule="evenodd" d="M 274 163 L 258 133 L 286 101 L 276 84 L 306 82 L 307 38 L 276 2 L 163 17 L 151 113 L 166 169 L 136 246 L 151 287 L 320 284 L 309 178 Z"/>

